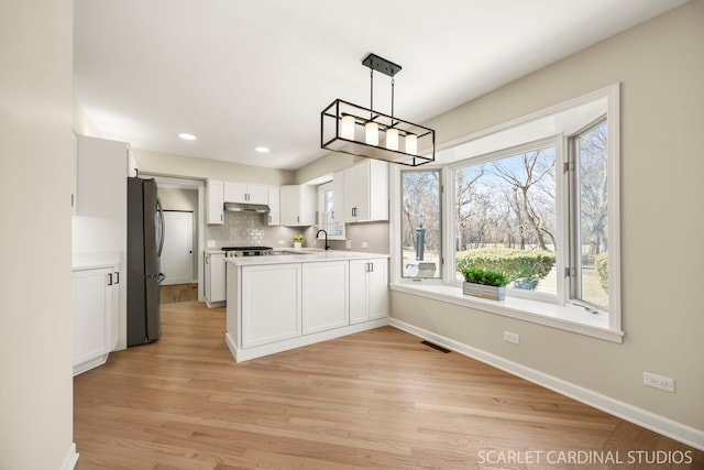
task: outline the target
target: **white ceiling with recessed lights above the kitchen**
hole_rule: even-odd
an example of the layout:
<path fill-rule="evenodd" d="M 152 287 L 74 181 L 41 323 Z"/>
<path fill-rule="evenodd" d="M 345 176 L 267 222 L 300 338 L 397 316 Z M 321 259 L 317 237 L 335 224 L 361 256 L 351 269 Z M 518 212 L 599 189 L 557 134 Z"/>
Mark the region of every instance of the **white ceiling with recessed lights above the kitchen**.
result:
<path fill-rule="evenodd" d="M 403 67 L 395 114 L 422 123 L 684 2 L 76 0 L 75 94 L 106 139 L 295 170 L 326 153 L 332 100 L 369 107 L 370 52 Z M 386 113 L 389 84 L 375 74 Z"/>

